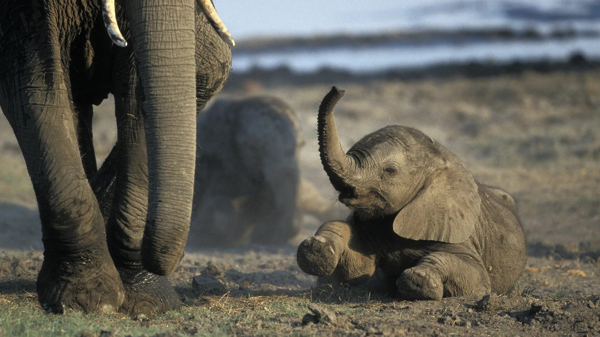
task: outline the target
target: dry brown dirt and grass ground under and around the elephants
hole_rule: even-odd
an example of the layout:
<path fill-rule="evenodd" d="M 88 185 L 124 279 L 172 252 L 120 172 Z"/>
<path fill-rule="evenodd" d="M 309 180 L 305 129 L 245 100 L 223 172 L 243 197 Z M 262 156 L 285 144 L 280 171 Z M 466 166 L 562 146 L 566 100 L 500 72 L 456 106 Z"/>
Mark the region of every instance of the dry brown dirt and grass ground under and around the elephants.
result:
<path fill-rule="evenodd" d="M 187 252 L 172 277 L 184 300 L 181 311 L 149 320 L 118 314 L 101 319 L 46 315 L 35 295 L 43 248 L 35 198 L 12 131 L 2 119 L 0 336 L 35 336 L 42 331 L 56 336 L 167 331 L 600 335 L 600 70 L 277 87 L 259 81 L 234 84 L 242 89 L 226 86 L 219 97 L 273 95 L 295 109 L 306 141 L 301 174 L 332 204 L 337 195 L 320 166 L 316 142 L 316 110 L 331 85 L 346 90 L 336 109 L 344 148 L 380 127 L 401 124 L 424 131 L 457 153 L 479 182 L 504 189 L 517 203 L 529 258 L 515 289 L 479 305 L 475 302 L 480 299 L 469 297 L 405 302 L 352 291 L 318 293 L 311 290 L 314 278 L 295 262 L 295 245 L 322 221 L 305 216 L 304 230 L 287 245 Z M 94 117 L 99 163 L 116 134 L 107 103 Z M 339 204 L 335 207 L 339 211 L 335 216 L 344 212 Z M 194 287 L 192 277 L 200 273 L 218 280 L 217 288 Z M 74 323 L 67 323 L 71 318 Z M 10 319 L 21 323 L 1 324 Z"/>

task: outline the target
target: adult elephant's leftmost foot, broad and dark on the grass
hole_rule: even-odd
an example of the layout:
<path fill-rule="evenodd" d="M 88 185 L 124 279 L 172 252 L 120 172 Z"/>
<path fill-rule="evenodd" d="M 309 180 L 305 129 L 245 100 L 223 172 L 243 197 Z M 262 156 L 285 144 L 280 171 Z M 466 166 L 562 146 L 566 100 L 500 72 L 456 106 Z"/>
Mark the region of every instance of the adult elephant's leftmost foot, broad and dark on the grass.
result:
<path fill-rule="evenodd" d="M 106 258 L 85 255 L 61 261 L 46 255 L 37 279 L 38 300 L 46 311 L 115 312 L 121 306 L 125 291 L 108 252 Z"/>

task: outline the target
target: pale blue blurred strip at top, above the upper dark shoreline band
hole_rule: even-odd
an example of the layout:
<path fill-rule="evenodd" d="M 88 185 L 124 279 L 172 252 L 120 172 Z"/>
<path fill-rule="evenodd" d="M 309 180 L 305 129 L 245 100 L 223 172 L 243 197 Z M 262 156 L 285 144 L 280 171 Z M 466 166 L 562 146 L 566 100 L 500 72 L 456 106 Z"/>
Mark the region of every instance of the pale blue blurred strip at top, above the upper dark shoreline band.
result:
<path fill-rule="evenodd" d="M 238 40 L 389 29 L 600 30 L 597 0 L 216 0 Z"/>

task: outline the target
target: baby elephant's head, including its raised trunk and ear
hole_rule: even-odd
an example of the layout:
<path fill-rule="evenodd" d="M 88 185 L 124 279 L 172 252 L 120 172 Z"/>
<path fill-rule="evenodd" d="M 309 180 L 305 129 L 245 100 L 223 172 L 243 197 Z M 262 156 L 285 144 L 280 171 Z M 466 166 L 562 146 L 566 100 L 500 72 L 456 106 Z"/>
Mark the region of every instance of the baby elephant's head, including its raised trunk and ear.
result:
<path fill-rule="evenodd" d="M 333 116 L 343 94 L 334 86 L 323 98 L 318 118 L 321 162 L 342 203 L 362 219 L 402 210 L 400 215 L 410 213 L 410 220 L 422 225 L 452 221 L 453 216 L 464 221 L 478 214 L 481 199 L 469 171 L 456 155 L 421 131 L 391 125 L 368 134 L 344 153 Z M 437 212 L 445 213 L 440 214 L 445 218 L 432 220 L 431 214 Z M 420 213 L 423 218 L 418 221 Z"/>

